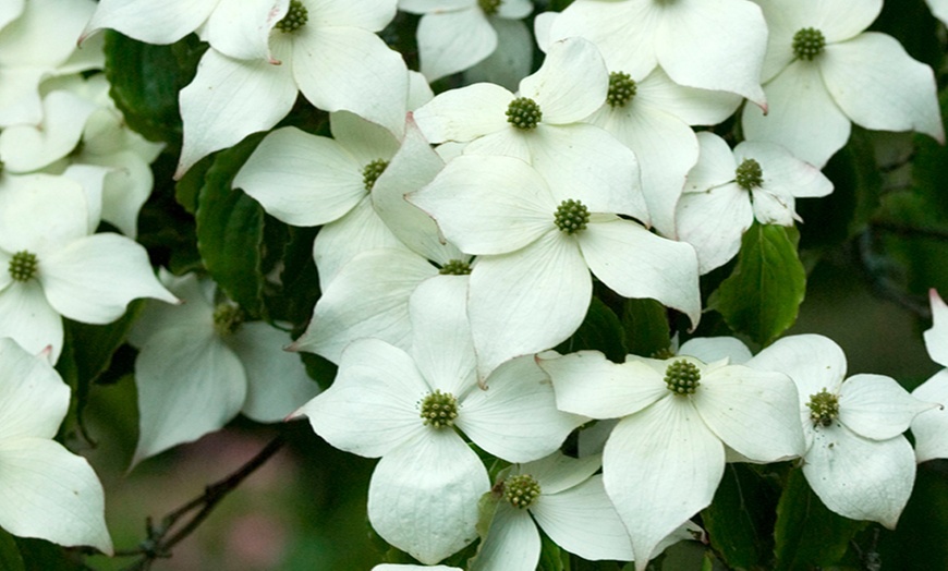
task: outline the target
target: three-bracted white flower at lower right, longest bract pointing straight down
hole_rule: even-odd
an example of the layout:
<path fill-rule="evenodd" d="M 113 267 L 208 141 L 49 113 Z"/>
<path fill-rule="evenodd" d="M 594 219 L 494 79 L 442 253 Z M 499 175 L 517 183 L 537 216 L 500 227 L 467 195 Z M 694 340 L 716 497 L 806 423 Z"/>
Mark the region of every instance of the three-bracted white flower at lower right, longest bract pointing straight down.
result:
<path fill-rule="evenodd" d="M 603 477 L 639 571 L 665 537 L 710 505 L 726 446 L 757 462 L 803 452 L 797 391 L 780 373 L 686 355 L 615 364 L 597 351 L 544 353 L 538 363 L 560 410 L 621 418 L 606 441 Z"/>

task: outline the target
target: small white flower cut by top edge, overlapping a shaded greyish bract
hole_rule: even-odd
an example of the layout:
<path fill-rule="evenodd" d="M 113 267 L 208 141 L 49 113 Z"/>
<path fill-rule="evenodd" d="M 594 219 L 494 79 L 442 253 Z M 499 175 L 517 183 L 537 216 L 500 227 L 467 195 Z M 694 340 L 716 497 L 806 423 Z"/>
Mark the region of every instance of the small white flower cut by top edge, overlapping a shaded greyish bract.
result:
<path fill-rule="evenodd" d="M 399 0 L 399 9 L 423 14 L 417 29 L 418 57 L 422 73 L 434 82 L 466 70 L 494 53 L 498 46 L 497 21 L 522 20 L 530 15 L 533 3 L 530 0 Z"/>

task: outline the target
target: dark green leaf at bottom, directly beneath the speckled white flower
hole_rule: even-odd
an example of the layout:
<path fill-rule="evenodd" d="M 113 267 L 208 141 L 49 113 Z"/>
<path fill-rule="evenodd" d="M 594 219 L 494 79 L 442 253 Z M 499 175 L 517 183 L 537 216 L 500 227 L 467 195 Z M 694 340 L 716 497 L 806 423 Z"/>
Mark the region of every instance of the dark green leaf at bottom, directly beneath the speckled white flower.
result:
<path fill-rule="evenodd" d="M 852 537 L 867 525 L 829 511 L 793 469 L 777 505 L 774 529 L 777 571 L 810 570 L 842 560 Z"/>

